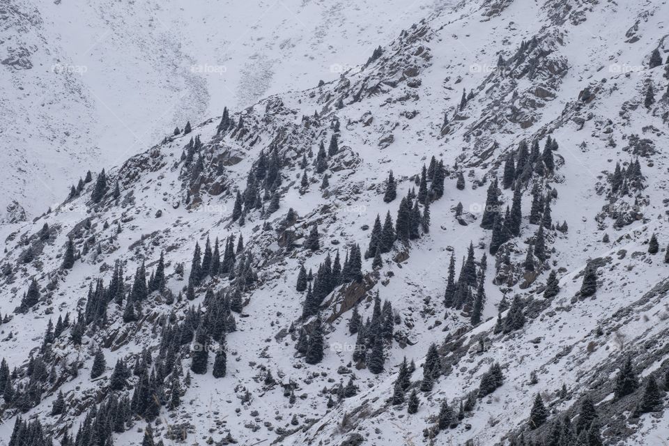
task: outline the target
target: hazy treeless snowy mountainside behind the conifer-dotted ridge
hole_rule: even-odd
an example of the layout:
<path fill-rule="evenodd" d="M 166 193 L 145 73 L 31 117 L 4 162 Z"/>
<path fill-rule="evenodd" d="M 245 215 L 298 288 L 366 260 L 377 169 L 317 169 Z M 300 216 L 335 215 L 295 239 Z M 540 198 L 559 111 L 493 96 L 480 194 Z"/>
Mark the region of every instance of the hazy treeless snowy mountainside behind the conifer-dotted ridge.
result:
<path fill-rule="evenodd" d="M 0 201 L 28 217 L 86 169 L 115 165 L 174 125 L 335 79 L 449 1 L 127 3 L 12 0 L 3 6 Z M 378 21 L 389 10 L 399 11 Z"/>

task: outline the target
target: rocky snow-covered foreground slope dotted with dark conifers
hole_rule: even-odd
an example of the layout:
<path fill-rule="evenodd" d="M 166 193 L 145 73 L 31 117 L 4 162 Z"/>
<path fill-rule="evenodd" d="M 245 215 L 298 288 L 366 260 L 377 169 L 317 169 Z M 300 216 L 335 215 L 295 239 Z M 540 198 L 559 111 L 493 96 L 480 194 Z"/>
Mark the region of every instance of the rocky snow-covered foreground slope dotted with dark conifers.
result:
<path fill-rule="evenodd" d="M 17 370 L 9 378 L 15 395 L 4 406 L 0 436 L 10 438 L 22 413 L 40 420 L 56 441 L 83 425 L 80 438 L 93 429 L 104 443 L 113 430 L 114 444 L 122 445 L 147 437 L 147 420 L 153 440 L 165 444 L 226 444 L 231 437 L 247 445 L 517 445 L 521 434 L 551 444 L 555 422 L 569 415 L 578 425 L 583 415 L 576 415 L 590 398 L 599 417 L 588 434 L 599 433 L 606 445 L 661 444 L 669 435 L 664 394 L 650 413 L 636 406 L 645 401 L 649 377 L 666 388 L 669 369 L 669 165 L 663 150 L 669 79 L 667 65 L 650 60 L 655 49 L 667 59 L 668 13 L 659 1 L 459 3 L 426 15 L 337 79 L 271 95 L 242 112 L 233 108 L 222 130 L 220 116 L 193 125 L 190 134 L 109 166 L 105 190 L 92 178 L 77 197 L 35 222 L 3 226 L 0 312 L 11 316 L 0 327 L 6 334 L 0 351 Z M 647 94 L 649 85 L 654 95 Z M 164 133 L 172 124 L 166 127 Z M 337 149 L 318 162 L 319 144 L 328 151 L 333 135 Z M 201 144 L 190 145 L 194 136 Z M 557 145 L 544 151 L 549 137 Z M 539 146 L 534 155 L 533 141 Z M 505 185 L 509 154 L 514 167 L 530 166 L 511 173 L 513 187 Z M 421 169 L 431 157 L 443 161 L 445 181 L 443 195 L 439 174 L 426 182 L 433 192 L 429 231 L 418 228 L 410 240 L 400 236 L 380 254 L 380 265 L 362 259 L 362 277 L 344 275 L 305 314 L 308 293 L 295 289 L 300 267 L 314 272 L 318 279 L 309 286 L 322 290 L 319 265 L 337 252 L 341 262 L 355 258 L 356 244 L 364 253 L 376 215 L 383 223 L 390 213 L 401 226 L 400 201 L 410 190 L 421 194 Z M 624 174 L 615 174 L 617 163 Z M 397 180 L 392 201 L 384 200 L 391 170 Z M 438 165 L 430 170 L 441 172 Z M 500 203 L 491 207 L 486 190 L 494 179 Z M 490 211 L 500 222 L 516 191 L 519 234 L 493 255 L 493 232 L 503 226 L 491 231 L 481 224 Z M 238 192 L 249 206 L 236 208 Z M 532 210 L 533 196 L 548 197 L 550 212 Z M 415 204 L 422 215 L 424 203 Z M 537 224 L 546 215 L 552 222 Z M 318 247 L 309 247 L 315 225 Z M 652 234 L 659 240 L 654 254 Z M 224 240 L 232 236 L 243 236 L 237 250 L 242 268 L 233 277 L 219 269 L 192 279 L 195 243 L 203 248 L 207 238 L 212 244 L 217 238 L 223 257 Z M 542 238 L 545 252 L 536 248 Z M 75 261 L 63 268 L 68 239 Z M 474 261 L 460 283 L 473 283 L 459 288 L 464 305 L 446 306 L 449 261 L 453 255 L 457 278 L 470 243 Z M 124 322 L 128 295 L 137 289 L 135 270 L 144 263 L 153 275 L 161 252 L 165 289 L 143 298 L 137 320 Z M 240 259 L 249 256 L 244 266 Z M 123 293 L 110 285 L 115 265 L 125 272 Z M 546 295 L 551 270 L 560 290 Z M 587 295 L 582 283 L 592 285 L 593 277 L 597 290 Z M 29 299 L 33 278 L 38 302 Z M 96 293 L 98 278 L 117 291 Z M 482 322 L 472 324 L 472 301 L 481 291 Z M 377 293 L 392 305 L 384 325 L 381 316 L 374 318 Z M 360 336 L 349 326 L 355 311 L 363 325 L 370 320 L 362 360 L 353 360 L 360 352 Z M 49 318 L 68 312 L 72 323 L 79 312 L 86 323 L 70 324 L 44 342 Z M 229 331 L 224 342 L 212 334 L 222 330 L 221 316 Z M 197 319 L 208 332 L 193 337 Z M 302 354 L 297 348 L 305 340 L 317 344 L 319 320 L 324 355 L 314 361 L 314 349 Z M 83 325 L 79 345 L 72 332 L 76 338 Z M 184 341 L 173 351 L 174 339 Z M 210 347 L 205 374 L 192 367 L 202 357 L 202 340 Z M 424 378 L 424 363 L 435 363 L 425 359 L 431 344 L 440 366 Z M 374 370 L 379 347 L 383 370 Z M 107 364 L 101 369 L 93 367 L 98 348 Z M 136 360 L 144 348 L 153 365 L 142 375 Z M 226 374 L 215 378 L 221 348 Z M 640 385 L 621 396 L 615 381 L 629 355 Z M 391 398 L 403 357 L 417 367 L 403 394 L 408 400 L 417 392 L 420 404 L 412 414 L 407 401 L 394 405 Z M 120 359 L 137 376 L 113 390 L 112 369 Z M 34 374 L 36 362 L 48 373 Z M 504 379 L 484 395 L 482 376 L 495 362 Z M 91 371 L 102 375 L 91 379 Z M 339 384 L 346 387 L 351 378 L 357 392 L 348 386 L 339 399 Z M 431 387 L 424 385 L 432 379 Z M 183 394 L 171 407 L 175 381 Z M 145 388 L 149 401 L 160 402 L 157 413 L 138 409 Z M 61 391 L 66 410 L 52 415 Z M 121 428 L 105 426 L 107 415 L 123 413 L 105 405 L 118 405 L 123 394 L 137 396 L 119 418 Z M 537 394 L 548 420 L 533 417 L 530 424 Z M 461 401 L 468 407 L 461 420 L 436 429 L 445 419 L 439 416 L 444 401 L 455 413 Z M 96 403 L 98 416 L 89 412 Z M 86 418 L 95 427 L 86 428 Z"/>

